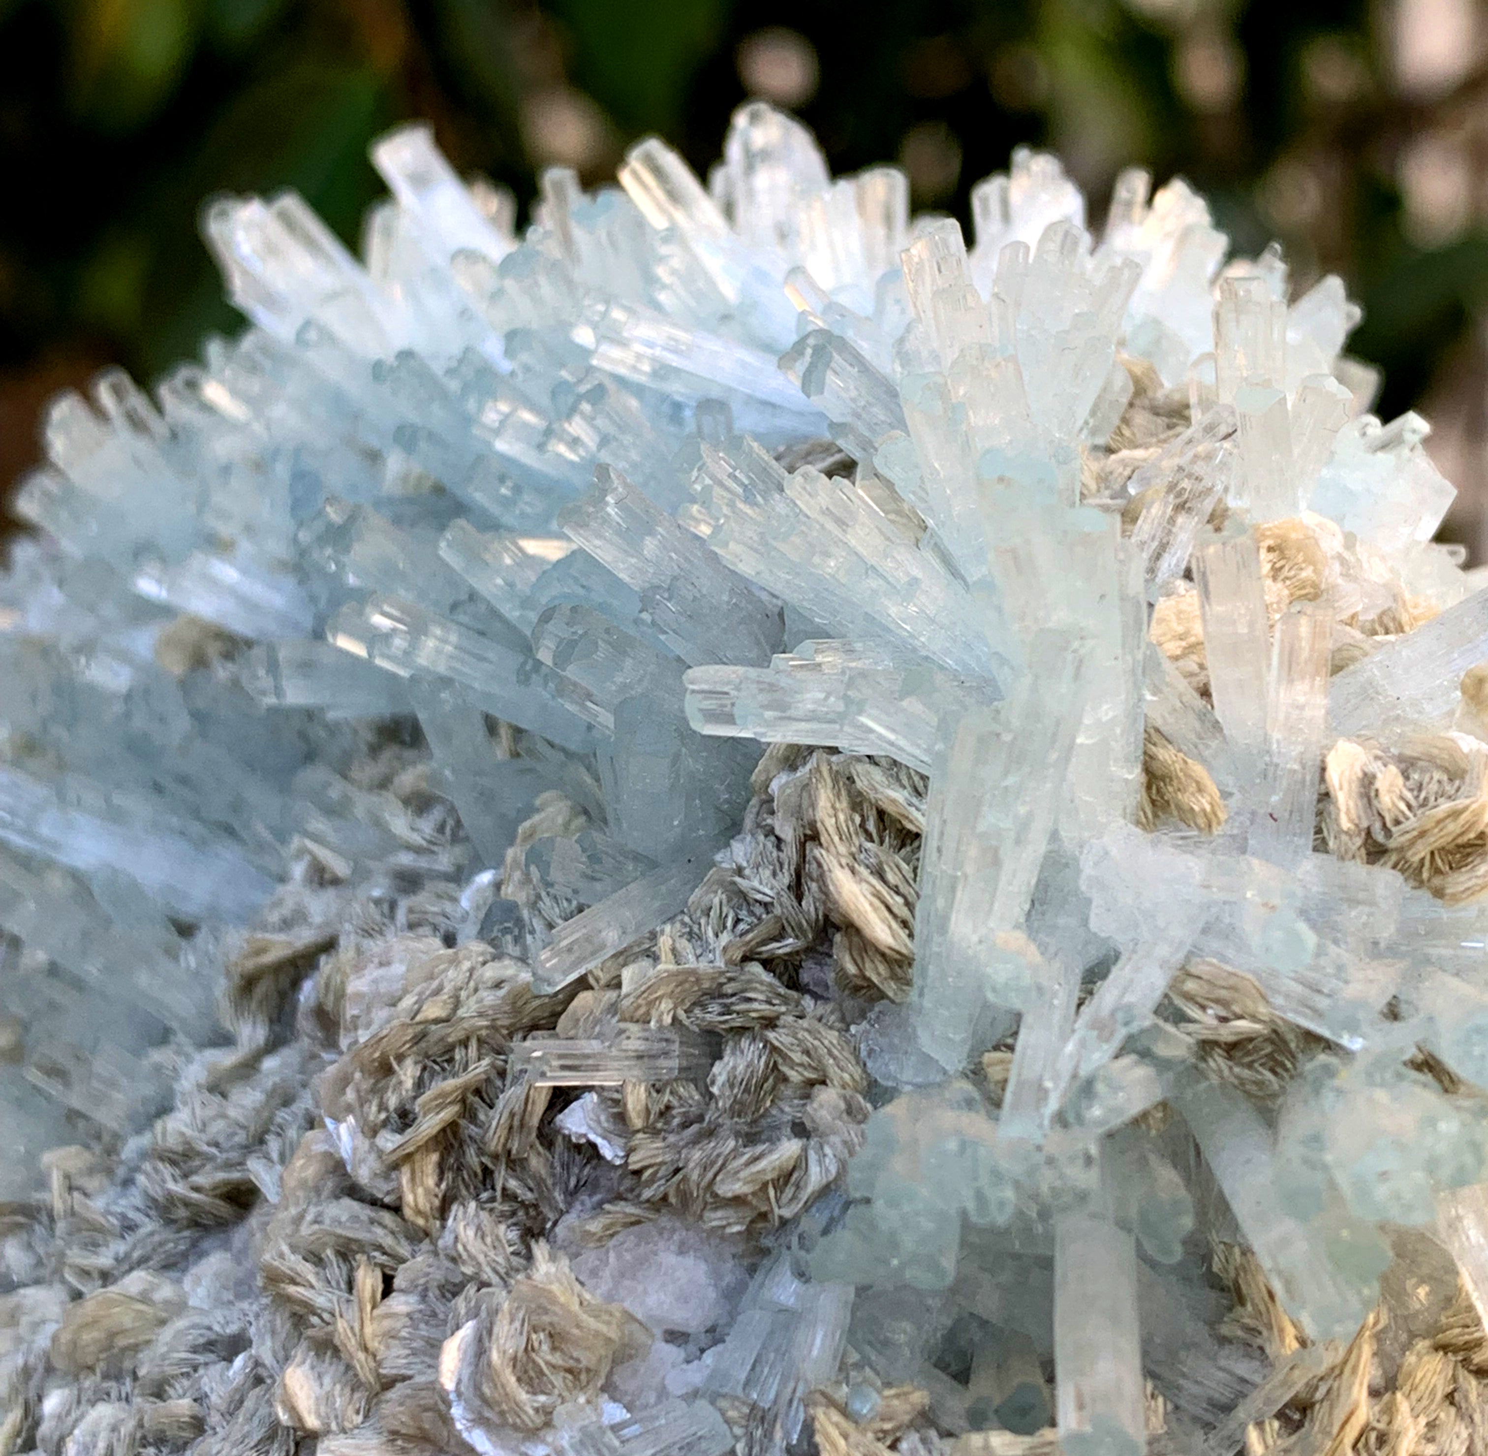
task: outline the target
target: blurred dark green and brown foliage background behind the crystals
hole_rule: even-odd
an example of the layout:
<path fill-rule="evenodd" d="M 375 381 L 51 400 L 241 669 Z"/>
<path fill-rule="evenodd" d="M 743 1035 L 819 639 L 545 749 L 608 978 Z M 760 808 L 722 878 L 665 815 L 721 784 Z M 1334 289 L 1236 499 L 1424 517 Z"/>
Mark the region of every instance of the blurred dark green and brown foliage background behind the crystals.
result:
<path fill-rule="evenodd" d="M 1430 415 L 1446 533 L 1488 560 L 1485 42 L 1475 0 L 0 0 L 0 485 L 52 392 L 235 328 L 205 195 L 292 186 L 350 241 L 400 119 L 525 205 L 649 131 L 704 171 L 760 95 L 838 171 L 897 159 L 920 208 L 966 220 L 1033 143 L 1097 216 L 1140 161 L 1301 286 L 1341 272 L 1381 412 Z"/>

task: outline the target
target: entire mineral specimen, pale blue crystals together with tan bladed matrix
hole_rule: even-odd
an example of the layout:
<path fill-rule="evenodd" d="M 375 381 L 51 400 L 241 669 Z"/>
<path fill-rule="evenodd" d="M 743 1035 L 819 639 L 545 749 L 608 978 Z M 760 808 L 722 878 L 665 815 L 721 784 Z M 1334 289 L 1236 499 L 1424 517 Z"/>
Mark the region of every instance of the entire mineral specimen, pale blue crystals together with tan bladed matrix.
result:
<path fill-rule="evenodd" d="M 373 162 L 19 496 L 0 1447 L 1467 1449 L 1488 593 L 1342 284 Z"/>

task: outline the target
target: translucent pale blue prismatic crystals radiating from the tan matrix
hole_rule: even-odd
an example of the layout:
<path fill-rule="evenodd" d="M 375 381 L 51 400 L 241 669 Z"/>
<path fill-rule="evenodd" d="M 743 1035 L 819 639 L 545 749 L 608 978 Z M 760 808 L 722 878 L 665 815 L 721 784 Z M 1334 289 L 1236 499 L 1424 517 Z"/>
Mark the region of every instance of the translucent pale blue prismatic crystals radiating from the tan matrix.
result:
<path fill-rule="evenodd" d="M 1290 299 L 1280 253 L 1226 262 L 1138 171 L 1091 231 L 1031 153 L 975 189 L 969 249 L 763 104 L 707 185 L 656 140 L 619 188 L 548 173 L 521 240 L 427 130 L 373 164 L 360 262 L 293 195 L 214 202 L 247 332 L 153 399 L 60 400 L 21 488 L 10 1191 L 68 1118 L 158 1106 L 287 865 L 454 886 L 460 938 L 510 930 L 558 992 L 745 872 L 762 744 L 821 746 L 929 776 L 912 977 L 809 983 L 875 1111 L 705 1395 L 786 1444 L 848 1349 L 853 1420 L 912 1382 L 942 1432 L 1048 1417 L 1128 1456 L 1152 1382 L 1164 1440 L 1228 1456 L 1315 1370 L 1263 1383 L 1217 1338 L 1196 1222 L 1305 1346 L 1354 1334 L 1402 1230 L 1488 1309 L 1488 593 L 1431 543 L 1424 423 L 1366 412 L 1339 280 Z M 423 810 L 359 777 L 378 732 L 427 744 Z M 545 925 L 496 887 L 558 802 Z M 1231 1056 L 1262 1044 L 1274 1075 Z M 683 1018 L 506 1075 L 716 1056 Z M 589 1103 L 562 1125 L 603 1151 Z M 699 1410 L 554 1449 L 716 1456 Z"/>

